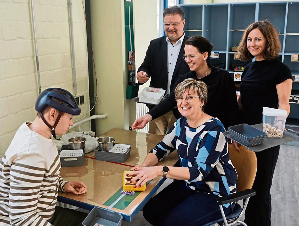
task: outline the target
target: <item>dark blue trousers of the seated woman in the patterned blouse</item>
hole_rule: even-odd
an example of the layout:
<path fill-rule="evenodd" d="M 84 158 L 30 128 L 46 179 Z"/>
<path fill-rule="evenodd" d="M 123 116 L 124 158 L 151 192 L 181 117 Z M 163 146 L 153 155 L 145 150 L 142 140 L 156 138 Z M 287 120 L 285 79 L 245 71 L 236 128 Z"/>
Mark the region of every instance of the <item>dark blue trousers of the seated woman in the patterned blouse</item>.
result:
<path fill-rule="evenodd" d="M 231 206 L 223 208 L 225 214 Z M 191 191 L 186 182 L 175 180 L 143 208 L 144 218 L 152 225 L 200 225 L 221 217 L 219 205 L 205 193 Z"/>

